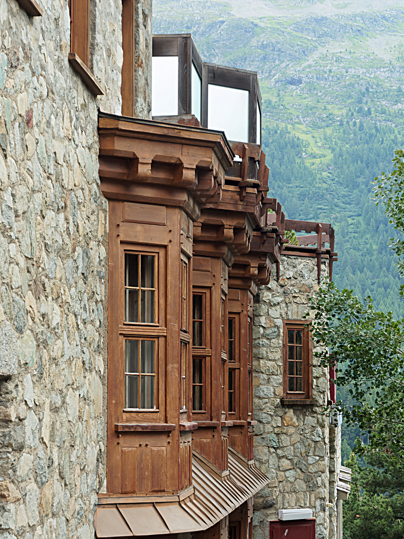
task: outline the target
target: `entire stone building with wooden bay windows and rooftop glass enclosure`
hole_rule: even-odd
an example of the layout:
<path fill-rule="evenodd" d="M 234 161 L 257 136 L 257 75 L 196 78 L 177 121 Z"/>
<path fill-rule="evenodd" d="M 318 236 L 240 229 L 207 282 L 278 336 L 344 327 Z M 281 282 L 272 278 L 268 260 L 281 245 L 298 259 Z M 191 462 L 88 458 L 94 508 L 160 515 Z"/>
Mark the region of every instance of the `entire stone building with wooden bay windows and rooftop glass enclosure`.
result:
<path fill-rule="evenodd" d="M 256 74 L 152 39 L 150 0 L 0 0 L 0 30 L 0 536 L 266 537 L 307 507 L 335 537 L 303 323 L 333 231 L 268 197 Z"/>

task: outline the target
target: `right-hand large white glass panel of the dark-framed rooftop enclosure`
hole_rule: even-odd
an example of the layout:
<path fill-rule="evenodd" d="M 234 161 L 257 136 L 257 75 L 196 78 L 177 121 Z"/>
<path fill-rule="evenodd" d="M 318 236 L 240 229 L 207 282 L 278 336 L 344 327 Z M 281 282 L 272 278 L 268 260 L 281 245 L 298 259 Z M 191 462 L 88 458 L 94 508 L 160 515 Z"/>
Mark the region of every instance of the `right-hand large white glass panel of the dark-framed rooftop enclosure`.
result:
<path fill-rule="evenodd" d="M 248 142 L 247 90 L 208 85 L 208 129 L 224 131 L 228 140 Z"/>

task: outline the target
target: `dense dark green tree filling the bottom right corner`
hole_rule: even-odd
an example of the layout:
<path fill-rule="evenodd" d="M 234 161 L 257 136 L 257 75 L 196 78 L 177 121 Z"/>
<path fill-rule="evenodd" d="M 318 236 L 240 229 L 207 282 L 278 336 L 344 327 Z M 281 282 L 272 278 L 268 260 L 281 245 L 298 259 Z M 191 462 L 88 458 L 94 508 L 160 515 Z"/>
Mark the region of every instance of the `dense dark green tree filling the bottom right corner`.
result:
<path fill-rule="evenodd" d="M 344 537 L 402 539 L 404 537 L 404 476 L 388 453 L 372 452 L 366 466 L 356 456 L 345 463 L 352 469 L 351 494 L 344 502 Z"/>

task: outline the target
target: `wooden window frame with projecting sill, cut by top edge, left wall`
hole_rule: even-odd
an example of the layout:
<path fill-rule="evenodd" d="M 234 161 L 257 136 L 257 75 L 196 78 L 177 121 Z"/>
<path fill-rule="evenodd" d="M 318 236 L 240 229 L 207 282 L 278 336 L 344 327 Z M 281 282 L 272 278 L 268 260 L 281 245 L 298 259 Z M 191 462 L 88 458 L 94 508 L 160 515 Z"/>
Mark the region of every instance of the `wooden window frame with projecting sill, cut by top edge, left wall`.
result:
<path fill-rule="evenodd" d="M 69 63 L 94 95 L 105 94 L 90 70 L 90 0 L 69 0 L 70 52 Z"/>

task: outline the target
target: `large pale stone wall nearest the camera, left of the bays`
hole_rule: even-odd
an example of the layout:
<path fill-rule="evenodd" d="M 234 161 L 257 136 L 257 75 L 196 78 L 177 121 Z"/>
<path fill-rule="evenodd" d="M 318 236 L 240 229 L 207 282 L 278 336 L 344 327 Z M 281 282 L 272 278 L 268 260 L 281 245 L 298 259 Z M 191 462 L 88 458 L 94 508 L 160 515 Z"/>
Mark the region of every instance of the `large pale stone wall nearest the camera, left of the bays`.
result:
<path fill-rule="evenodd" d="M 95 98 L 68 62 L 67 1 L 38 1 L 43 17 L 0 0 L 0 536 L 87 539 L 106 475 L 97 107 L 121 112 L 122 4 L 90 2 Z"/>

